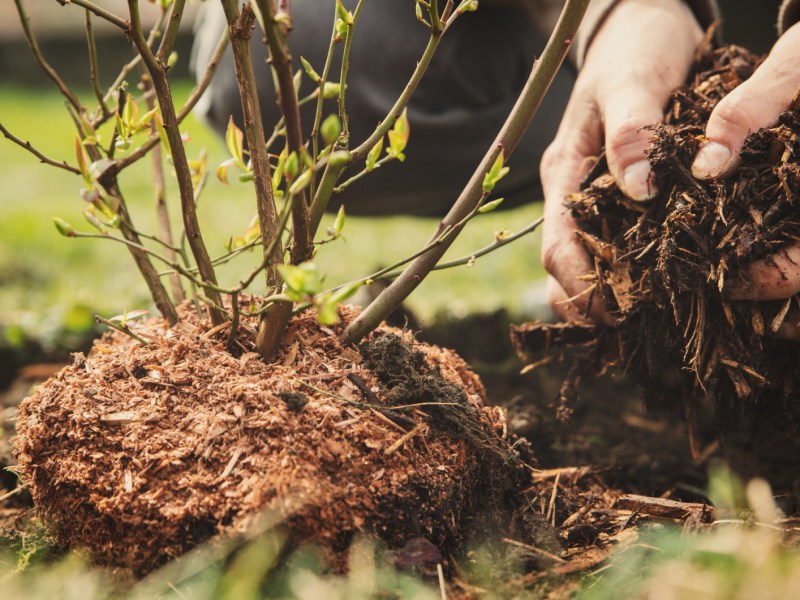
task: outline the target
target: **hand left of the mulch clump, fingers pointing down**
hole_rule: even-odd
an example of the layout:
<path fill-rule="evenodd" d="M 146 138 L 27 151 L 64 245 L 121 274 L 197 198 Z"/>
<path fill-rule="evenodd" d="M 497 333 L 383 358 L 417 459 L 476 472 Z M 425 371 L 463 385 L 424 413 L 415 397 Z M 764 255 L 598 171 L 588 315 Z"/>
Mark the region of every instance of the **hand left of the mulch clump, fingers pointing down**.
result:
<path fill-rule="evenodd" d="M 681 0 L 621 0 L 596 32 L 558 133 L 542 158 L 542 261 L 548 301 L 563 319 L 612 324 L 585 276 L 592 261 L 576 237 L 564 199 L 579 191 L 605 142 L 611 175 L 627 196 L 654 194 L 645 153 L 670 93 L 683 84 L 703 31 Z M 587 314 L 587 307 L 589 308 Z"/>

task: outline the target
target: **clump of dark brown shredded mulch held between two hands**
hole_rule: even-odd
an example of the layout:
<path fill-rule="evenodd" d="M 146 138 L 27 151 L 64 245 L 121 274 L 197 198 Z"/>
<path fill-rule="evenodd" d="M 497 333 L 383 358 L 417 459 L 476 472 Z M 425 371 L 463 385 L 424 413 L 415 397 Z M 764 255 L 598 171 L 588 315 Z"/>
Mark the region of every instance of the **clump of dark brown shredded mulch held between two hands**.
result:
<path fill-rule="evenodd" d="M 581 375 L 616 363 L 642 384 L 649 406 L 683 407 L 690 424 L 693 407 L 709 399 L 729 426 L 769 413 L 798 429 L 800 343 L 772 337 L 797 299 L 731 302 L 722 290 L 748 263 L 800 239 L 800 115 L 788 111 L 752 134 L 731 177 L 691 174 L 711 111 L 759 62 L 736 46 L 698 53 L 688 84 L 652 129 L 654 200 L 626 198 L 602 157 L 568 199 L 594 258 L 591 300 L 611 310 L 617 327 L 515 328 L 529 360 L 566 350 L 577 357 L 562 405 Z"/>

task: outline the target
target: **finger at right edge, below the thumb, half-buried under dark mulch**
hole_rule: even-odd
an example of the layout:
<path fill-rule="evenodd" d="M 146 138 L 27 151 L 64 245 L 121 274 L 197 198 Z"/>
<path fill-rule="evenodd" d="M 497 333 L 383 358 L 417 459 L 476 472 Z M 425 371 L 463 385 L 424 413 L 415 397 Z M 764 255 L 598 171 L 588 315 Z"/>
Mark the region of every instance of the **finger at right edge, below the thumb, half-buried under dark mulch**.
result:
<path fill-rule="evenodd" d="M 723 291 L 729 300 L 782 300 L 800 293 L 800 242 L 750 263 Z"/>

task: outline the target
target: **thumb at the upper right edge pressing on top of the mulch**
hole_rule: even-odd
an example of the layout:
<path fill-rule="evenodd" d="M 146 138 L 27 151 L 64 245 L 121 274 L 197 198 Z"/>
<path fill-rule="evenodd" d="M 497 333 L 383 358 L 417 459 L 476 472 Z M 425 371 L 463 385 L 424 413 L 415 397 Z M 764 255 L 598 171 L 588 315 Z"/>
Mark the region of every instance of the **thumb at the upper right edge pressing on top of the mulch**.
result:
<path fill-rule="evenodd" d="M 800 28 L 789 29 L 753 75 L 725 96 L 709 117 L 706 142 L 692 164 L 698 179 L 725 177 L 736 169 L 745 139 L 773 125 L 800 85 Z"/>

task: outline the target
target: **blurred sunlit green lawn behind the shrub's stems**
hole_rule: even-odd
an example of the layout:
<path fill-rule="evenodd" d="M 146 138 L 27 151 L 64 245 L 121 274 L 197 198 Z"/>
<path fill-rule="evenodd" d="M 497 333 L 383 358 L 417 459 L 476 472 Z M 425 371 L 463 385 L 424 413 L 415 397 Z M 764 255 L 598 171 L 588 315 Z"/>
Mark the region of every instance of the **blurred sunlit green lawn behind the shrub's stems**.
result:
<path fill-rule="evenodd" d="M 188 83 L 179 84 L 176 95 L 183 97 L 189 89 Z M 0 92 L 0 115 L 6 127 L 47 156 L 75 162 L 74 129 L 57 92 L 5 87 Z M 203 124 L 190 118 L 183 130 L 191 136 L 190 157 L 207 149 L 210 171 L 227 158 L 222 141 Z M 121 177 L 123 193 L 142 231 L 155 230 L 150 177 L 147 160 Z M 149 307 L 144 284 L 121 245 L 64 238 L 53 227 L 52 218 L 60 217 L 78 230 L 91 230 L 81 214 L 79 177 L 39 164 L 23 149 L 2 140 L 0 181 L 0 324 L 47 331 L 54 323 L 70 319 L 79 327 L 90 323 L 92 311 L 112 315 Z M 174 178 L 169 181 L 168 201 L 171 214 L 177 216 Z M 210 253 L 221 254 L 228 237 L 241 234 L 254 214 L 252 189 L 238 182 L 224 186 L 212 176 L 199 213 Z M 481 215 L 447 258 L 467 255 L 490 243 L 495 231 L 517 230 L 540 213 L 540 205 L 532 203 Z M 327 219 L 332 222 L 333 216 Z M 435 225 L 435 219 L 348 217 L 344 239 L 323 247 L 316 260 L 327 282 L 347 281 L 411 254 L 425 243 Z M 474 267 L 432 274 L 408 305 L 423 320 L 443 313 L 463 315 L 498 308 L 519 313 L 526 291 L 543 277 L 538 254 L 538 234 L 528 236 L 479 259 Z M 237 281 L 257 259 L 253 252 L 233 268 L 222 269 L 221 279 Z"/>

